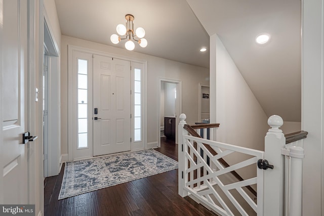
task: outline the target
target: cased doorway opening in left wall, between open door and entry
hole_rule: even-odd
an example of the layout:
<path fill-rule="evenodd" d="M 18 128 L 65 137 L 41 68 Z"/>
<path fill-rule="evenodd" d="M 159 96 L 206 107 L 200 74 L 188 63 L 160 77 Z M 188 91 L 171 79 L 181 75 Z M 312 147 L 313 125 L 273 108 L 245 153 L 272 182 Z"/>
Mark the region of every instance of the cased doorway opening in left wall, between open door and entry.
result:
<path fill-rule="evenodd" d="M 46 17 L 45 17 L 46 18 Z M 44 19 L 44 69 L 42 74 L 44 177 L 60 170 L 60 71 L 59 49 Z"/>

